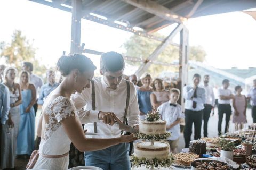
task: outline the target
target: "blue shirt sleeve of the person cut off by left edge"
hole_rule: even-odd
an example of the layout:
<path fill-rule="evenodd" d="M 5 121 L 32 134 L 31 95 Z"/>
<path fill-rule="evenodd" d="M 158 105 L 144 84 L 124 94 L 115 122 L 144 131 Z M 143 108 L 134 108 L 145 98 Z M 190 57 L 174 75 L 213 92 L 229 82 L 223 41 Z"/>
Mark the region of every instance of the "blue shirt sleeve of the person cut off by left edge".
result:
<path fill-rule="evenodd" d="M 8 120 L 9 111 L 10 111 L 10 93 L 9 93 L 9 89 L 5 88 L 4 94 L 3 94 L 3 109 L 2 109 L 2 116 L 1 116 L 1 124 L 5 124 L 5 122 Z"/>

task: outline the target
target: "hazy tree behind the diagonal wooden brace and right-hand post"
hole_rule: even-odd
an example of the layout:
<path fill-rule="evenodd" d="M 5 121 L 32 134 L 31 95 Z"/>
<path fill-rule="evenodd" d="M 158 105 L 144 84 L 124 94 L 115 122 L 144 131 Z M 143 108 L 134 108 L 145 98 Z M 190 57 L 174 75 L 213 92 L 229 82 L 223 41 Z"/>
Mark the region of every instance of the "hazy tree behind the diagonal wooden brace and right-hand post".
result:
<path fill-rule="evenodd" d="M 156 36 L 163 37 L 161 35 L 155 34 Z M 163 37 L 164 38 L 164 37 Z M 122 47 L 126 50 L 126 55 L 129 57 L 141 58 L 143 61 L 146 60 L 151 53 L 159 46 L 161 42 L 152 40 L 146 37 L 133 35 L 128 39 Z M 191 47 L 190 47 L 191 48 Z M 189 58 L 196 61 L 203 61 L 206 53 L 203 50 L 203 47 L 193 47 L 192 52 Z M 169 45 L 167 46 L 163 52 L 156 58 L 156 62 L 161 63 L 170 63 L 170 66 L 151 64 L 148 73 L 152 74 L 154 77 L 158 76 L 162 71 L 170 71 L 170 72 L 178 72 L 179 67 L 171 66 L 171 63 L 179 61 L 179 47 Z M 127 61 L 130 65 L 140 66 L 141 62 Z"/>

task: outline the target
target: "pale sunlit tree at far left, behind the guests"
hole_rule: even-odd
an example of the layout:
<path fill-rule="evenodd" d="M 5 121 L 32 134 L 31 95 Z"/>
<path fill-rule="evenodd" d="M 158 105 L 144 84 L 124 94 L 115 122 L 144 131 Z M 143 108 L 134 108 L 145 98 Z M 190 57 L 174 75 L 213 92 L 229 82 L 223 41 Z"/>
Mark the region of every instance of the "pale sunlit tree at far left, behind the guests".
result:
<path fill-rule="evenodd" d="M 30 40 L 26 36 L 22 35 L 20 30 L 15 30 L 12 35 L 11 43 L 1 42 L 0 43 L 0 56 L 4 57 L 6 63 L 11 66 L 17 67 L 21 70 L 21 63 L 28 61 L 33 63 L 34 71 L 38 75 L 42 75 L 46 72 L 46 67 L 39 64 L 36 60 L 36 48 L 33 46 Z"/>

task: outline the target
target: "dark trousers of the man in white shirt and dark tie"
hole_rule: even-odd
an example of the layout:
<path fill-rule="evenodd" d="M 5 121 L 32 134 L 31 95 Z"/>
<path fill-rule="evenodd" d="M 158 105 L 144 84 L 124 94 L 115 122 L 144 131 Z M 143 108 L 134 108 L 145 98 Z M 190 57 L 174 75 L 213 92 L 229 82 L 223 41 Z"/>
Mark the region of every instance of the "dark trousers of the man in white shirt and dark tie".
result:
<path fill-rule="evenodd" d="M 189 147 L 193 122 L 194 122 L 194 129 L 195 129 L 194 139 L 201 138 L 202 117 L 203 117 L 203 110 L 191 111 L 191 110 L 185 109 L 185 130 L 184 130 L 185 148 Z"/>

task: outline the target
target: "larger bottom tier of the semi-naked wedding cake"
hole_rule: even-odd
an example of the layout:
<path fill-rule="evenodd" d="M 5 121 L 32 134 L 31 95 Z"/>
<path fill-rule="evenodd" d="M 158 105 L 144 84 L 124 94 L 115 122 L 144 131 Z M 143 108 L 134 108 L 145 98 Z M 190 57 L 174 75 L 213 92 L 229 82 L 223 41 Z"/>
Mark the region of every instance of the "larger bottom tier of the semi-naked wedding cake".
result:
<path fill-rule="evenodd" d="M 154 159 L 158 160 L 166 159 L 169 156 L 169 143 L 166 142 L 139 142 L 135 144 L 134 155 L 138 158 Z"/>

